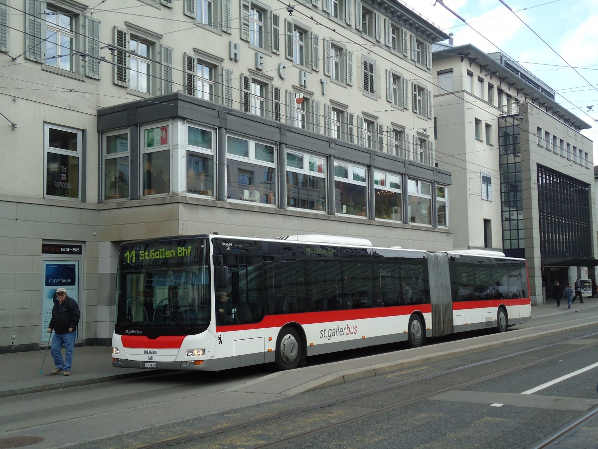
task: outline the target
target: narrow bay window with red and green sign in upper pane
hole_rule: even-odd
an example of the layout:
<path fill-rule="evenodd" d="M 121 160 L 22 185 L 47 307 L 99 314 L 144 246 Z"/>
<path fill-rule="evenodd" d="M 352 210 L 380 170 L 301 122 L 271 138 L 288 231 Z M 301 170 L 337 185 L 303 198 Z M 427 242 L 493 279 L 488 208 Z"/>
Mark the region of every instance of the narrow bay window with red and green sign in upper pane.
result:
<path fill-rule="evenodd" d="M 141 135 L 143 195 L 170 193 L 170 126 L 145 126 Z"/>

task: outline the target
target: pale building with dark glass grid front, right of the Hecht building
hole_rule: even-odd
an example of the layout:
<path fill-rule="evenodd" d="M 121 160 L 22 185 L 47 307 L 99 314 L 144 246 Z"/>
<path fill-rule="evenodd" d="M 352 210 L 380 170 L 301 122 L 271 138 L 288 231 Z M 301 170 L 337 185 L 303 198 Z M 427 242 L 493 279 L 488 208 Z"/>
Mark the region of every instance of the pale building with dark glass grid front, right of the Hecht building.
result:
<path fill-rule="evenodd" d="M 524 257 L 532 304 L 556 281 L 595 281 L 592 142 L 581 134 L 590 126 L 502 53 L 438 44 L 433 57 L 455 247 Z"/>

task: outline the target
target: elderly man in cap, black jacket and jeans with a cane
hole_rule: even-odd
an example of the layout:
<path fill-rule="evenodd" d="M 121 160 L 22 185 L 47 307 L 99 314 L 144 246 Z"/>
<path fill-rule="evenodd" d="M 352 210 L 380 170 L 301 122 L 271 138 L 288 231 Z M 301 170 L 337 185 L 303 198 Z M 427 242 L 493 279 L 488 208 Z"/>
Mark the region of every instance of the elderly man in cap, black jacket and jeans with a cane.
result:
<path fill-rule="evenodd" d="M 52 309 L 52 319 L 48 326 L 48 333 L 54 330 L 51 354 L 56 368 L 50 374 L 71 375 L 73 350 L 75 347 L 75 331 L 81 318 L 77 301 L 66 295 L 66 289 L 56 289 L 56 301 Z M 62 346 L 65 347 L 65 358 L 62 357 Z"/>

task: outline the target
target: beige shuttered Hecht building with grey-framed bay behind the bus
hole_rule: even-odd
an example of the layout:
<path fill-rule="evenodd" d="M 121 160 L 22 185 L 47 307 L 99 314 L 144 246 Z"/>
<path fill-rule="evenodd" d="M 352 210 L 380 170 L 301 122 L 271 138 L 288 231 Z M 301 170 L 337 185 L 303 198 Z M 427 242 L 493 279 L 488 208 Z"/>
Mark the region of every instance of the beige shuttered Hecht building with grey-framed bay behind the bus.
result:
<path fill-rule="evenodd" d="M 45 345 L 58 286 L 78 344 L 108 345 L 130 239 L 453 247 L 447 35 L 401 3 L 0 0 L 0 19 L 0 351 Z"/>

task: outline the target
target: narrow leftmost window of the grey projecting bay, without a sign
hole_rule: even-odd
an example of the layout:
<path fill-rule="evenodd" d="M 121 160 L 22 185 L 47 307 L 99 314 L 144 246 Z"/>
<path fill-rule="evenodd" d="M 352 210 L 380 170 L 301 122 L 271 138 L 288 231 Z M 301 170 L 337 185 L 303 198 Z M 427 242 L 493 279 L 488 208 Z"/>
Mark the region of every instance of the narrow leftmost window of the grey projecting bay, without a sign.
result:
<path fill-rule="evenodd" d="M 102 136 L 103 199 L 129 198 L 129 131 Z"/>

